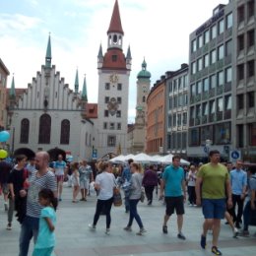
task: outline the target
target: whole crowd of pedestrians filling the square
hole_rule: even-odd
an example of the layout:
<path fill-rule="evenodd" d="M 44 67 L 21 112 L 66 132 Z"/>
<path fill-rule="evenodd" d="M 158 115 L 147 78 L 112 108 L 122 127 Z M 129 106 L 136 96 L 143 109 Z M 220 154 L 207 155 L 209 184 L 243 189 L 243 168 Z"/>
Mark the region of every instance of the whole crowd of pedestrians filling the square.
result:
<path fill-rule="evenodd" d="M 189 207 L 202 207 L 205 220 L 201 247 L 206 248 L 211 230 L 212 252 L 222 255 L 219 249 L 221 220 L 226 219 L 233 237 L 237 237 L 248 236 L 249 225 L 256 218 L 256 167 L 250 166 L 246 172 L 241 160 L 233 165 L 221 163 L 220 157 L 218 151 L 211 151 L 208 163 L 181 166 L 180 157 L 174 156 L 172 164 L 165 167 L 143 166 L 134 160 L 128 160 L 127 165 L 113 165 L 103 160 L 91 165 L 87 160 L 66 162 L 62 155 L 50 164 L 46 152 L 36 153 L 29 162 L 26 156 L 17 156 L 14 165 L 0 160 L 0 189 L 8 213 L 7 229 L 12 229 L 15 213 L 21 223 L 19 255 L 28 255 L 32 237 L 35 242 L 32 255 L 50 255 L 55 245 L 55 211 L 58 202 L 62 201 L 63 182 L 66 181 L 73 188 L 70 195 L 73 203 L 86 202 L 92 186 L 96 191 L 96 213 L 93 223 L 89 224 L 92 230 L 96 230 L 98 219 L 104 215 L 105 233 L 110 233 L 114 193 L 121 190 L 124 211 L 129 214 L 124 230 L 132 231 L 135 220 L 139 226 L 137 234 L 143 235 L 146 228 L 137 206 L 143 200 L 144 189 L 148 206 L 152 206 L 154 191 L 158 195 L 160 187 L 159 200 L 165 206 L 162 232 L 168 232 L 167 223 L 175 213 L 177 238 L 186 239 L 182 227 L 188 195 Z"/>

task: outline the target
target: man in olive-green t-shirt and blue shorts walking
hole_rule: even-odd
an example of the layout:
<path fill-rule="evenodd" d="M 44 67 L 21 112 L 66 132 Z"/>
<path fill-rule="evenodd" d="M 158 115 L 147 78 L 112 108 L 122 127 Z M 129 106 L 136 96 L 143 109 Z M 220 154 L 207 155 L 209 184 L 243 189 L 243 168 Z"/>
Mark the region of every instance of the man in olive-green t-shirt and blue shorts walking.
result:
<path fill-rule="evenodd" d="M 232 206 L 231 187 L 229 174 L 226 167 L 220 163 L 220 152 L 209 153 L 210 162 L 201 166 L 197 173 L 196 196 L 197 205 L 202 203 L 205 222 L 201 235 L 201 247 L 206 248 L 206 235 L 209 229 L 213 229 L 212 252 L 222 255 L 218 249 L 218 239 L 221 230 L 221 220 L 224 219 L 224 212 L 227 206 Z M 201 201 L 202 198 L 202 201 Z"/>

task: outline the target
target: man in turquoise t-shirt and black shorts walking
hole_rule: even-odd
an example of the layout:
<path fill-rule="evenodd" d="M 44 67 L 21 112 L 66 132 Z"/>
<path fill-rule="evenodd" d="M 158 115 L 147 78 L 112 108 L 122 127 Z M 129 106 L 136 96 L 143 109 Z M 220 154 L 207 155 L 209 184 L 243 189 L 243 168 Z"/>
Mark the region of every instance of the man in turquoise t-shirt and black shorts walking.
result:
<path fill-rule="evenodd" d="M 160 198 L 164 197 L 166 203 L 165 215 L 163 218 L 162 232 L 167 233 L 167 222 L 170 216 L 176 211 L 179 239 L 185 240 L 186 237 L 181 232 L 183 225 L 184 201 L 186 200 L 185 175 L 180 167 L 180 157 L 173 156 L 172 164 L 167 166 L 162 174 L 160 182 Z"/>

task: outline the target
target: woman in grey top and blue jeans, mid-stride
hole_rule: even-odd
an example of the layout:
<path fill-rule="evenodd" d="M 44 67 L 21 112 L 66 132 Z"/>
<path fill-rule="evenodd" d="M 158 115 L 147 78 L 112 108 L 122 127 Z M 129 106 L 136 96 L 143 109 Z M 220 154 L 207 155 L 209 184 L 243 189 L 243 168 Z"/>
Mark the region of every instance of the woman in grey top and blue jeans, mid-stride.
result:
<path fill-rule="evenodd" d="M 138 163 L 132 162 L 131 163 L 131 192 L 129 196 L 129 205 L 130 205 L 130 218 L 127 226 L 124 227 L 124 230 L 131 231 L 133 220 L 135 219 L 137 224 L 140 226 L 138 235 L 142 235 L 146 232 L 144 225 L 142 223 L 141 217 L 137 212 L 137 205 L 141 200 L 142 194 L 142 174 L 141 174 L 141 166 Z"/>

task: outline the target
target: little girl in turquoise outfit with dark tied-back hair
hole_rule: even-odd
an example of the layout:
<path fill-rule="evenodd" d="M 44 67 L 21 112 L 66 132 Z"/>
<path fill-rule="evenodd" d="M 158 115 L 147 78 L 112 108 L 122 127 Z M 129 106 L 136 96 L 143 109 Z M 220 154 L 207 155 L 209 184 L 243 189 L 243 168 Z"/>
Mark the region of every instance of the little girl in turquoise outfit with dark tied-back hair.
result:
<path fill-rule="evenodd" d="M 42 189 L 38 193 L 38 201 L 43 209 L 39 220 L 39 230 L 32 256 L 50 256 L 55 245 L 57 200 L 50 189 Z"/>

